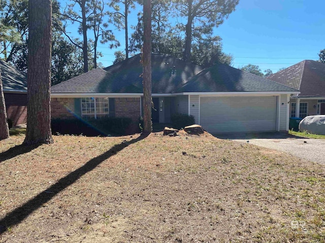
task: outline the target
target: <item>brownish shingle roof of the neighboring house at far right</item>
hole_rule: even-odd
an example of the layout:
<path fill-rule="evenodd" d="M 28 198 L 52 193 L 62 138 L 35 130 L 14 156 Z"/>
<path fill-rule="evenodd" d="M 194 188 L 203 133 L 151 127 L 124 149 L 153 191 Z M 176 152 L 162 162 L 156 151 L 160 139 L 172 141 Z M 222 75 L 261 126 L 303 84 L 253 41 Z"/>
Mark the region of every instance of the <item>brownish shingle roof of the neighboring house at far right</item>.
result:
<path fill-rule="evenodd" d="M 304 60 L 268 78 L 301 90 L 299 96 L 325 96 L 325 64 Z"/>

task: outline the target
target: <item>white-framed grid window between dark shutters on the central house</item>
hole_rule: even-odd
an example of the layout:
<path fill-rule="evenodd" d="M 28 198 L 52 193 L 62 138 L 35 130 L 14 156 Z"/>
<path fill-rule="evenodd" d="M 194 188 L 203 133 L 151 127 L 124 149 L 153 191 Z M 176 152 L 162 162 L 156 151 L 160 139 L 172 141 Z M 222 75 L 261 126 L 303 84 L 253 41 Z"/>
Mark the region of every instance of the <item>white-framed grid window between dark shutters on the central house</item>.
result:
<path fill-rule="evenodd" d="M 108 97 L 81 98 L 81 115 L 85 118 L 101 118 L 109 116 Z"/>

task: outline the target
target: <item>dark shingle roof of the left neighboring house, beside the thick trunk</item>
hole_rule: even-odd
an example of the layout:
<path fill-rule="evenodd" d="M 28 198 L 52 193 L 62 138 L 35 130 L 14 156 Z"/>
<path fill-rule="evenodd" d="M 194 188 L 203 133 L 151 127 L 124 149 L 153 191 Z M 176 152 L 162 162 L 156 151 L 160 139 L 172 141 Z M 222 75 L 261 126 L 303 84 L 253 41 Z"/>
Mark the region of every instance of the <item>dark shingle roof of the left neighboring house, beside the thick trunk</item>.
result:
<path fill-rule="evenodd" d="M 16 67 L 0 60 L 4 90 L 27 91 L 27 75 Z"/>

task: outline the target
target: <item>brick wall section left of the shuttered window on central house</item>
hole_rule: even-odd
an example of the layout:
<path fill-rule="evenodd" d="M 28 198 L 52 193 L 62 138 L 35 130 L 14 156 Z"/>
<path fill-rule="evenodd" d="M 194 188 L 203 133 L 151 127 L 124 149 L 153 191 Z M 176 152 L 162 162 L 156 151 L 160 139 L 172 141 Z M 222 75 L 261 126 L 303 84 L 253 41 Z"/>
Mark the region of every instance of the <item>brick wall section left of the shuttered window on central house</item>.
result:
<path fill-rule="evenodd" d="M 52 98 L 51 117 L 52 118 L 75 118 L 75 99 L 74 98 Z"/>

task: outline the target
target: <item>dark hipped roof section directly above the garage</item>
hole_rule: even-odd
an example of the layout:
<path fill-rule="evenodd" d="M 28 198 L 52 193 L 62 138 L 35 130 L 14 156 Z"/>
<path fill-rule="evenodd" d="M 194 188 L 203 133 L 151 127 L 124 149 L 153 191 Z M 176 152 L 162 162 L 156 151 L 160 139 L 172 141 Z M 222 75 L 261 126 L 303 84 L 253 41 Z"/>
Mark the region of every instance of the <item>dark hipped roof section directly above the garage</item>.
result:
<path fill-rule="evenodd" d="M 206 68 L 191 78 L 181 92 L 270 92 L 297 90 L 224 64 Z"/>

